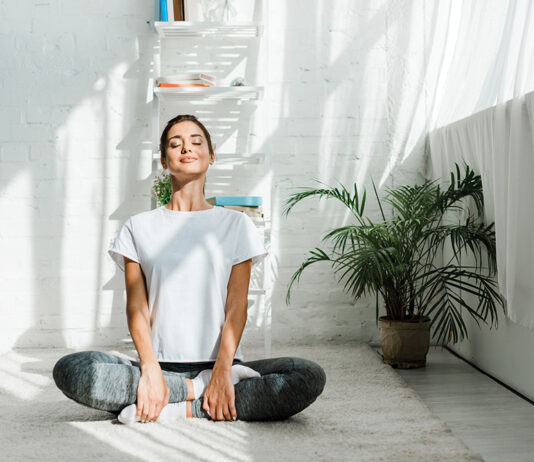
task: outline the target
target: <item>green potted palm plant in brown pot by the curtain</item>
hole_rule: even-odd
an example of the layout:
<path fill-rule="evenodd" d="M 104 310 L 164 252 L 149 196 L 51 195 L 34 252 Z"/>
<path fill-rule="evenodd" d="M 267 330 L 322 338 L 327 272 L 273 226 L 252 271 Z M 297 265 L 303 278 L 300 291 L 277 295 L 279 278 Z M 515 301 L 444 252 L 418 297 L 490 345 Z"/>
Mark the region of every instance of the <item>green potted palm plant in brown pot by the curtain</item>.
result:
<path fill-rule="evenodd" d="M 383 200 L 373 182 L 382 217 L 377 223 L 364 217 L 366 191 L 360 197 L 356 184 L 353 194 L 343 185 L 340 189 L 328 185 L 300 188 L 304 191 L 291 194 L 285 204 L 286 217 L 304 198 L 325 196 L 341 201 L 357 223 L 324 236 L 323 241 L 332 239 L 334 243 L 330 255 L 318 247 L 310 251 L 312 256 L 291 277 L 286 305 L 290 303 L 291 286 L 300 280 L 304 268 L 331 261 L 335 273 L 343 270 L 340 280 L 346 277 L 344 289 L 351 291 L 354 301 L 366 294 L 376 296 L 383 361 L 399 368 L 425 366 L 431 327 L 438 344 L 467 338 L 461 308 L 479 327 L 479 320 L 487 323 L 488 318 L 490 327 L 493 322 L 497 326 L 497 308 L 500 305 L 504 309 L 504 299 L 494 279 L 494 223 L 485 225 L 479 220 L 484 207 L 482 180 L 467 164 L 464 167 L 462 176 L 456 164 L 456 175 L 451 172 L 447 189 L 436 184 L 437 180 L 427 180 L 422 185 L 386 188 Z M 391 206 L 389 218 L 383 202 Z M 466 205 L 469 202 L 476 213 Z M 462 212 L 465 218 L 445 223 L 453 211 Z M 452 258 L 440 263 L 436 257 L 446 243 Z M 474 296 L 477 301 L 470 303 L 464 295 Z M 379 317 L 380 297 L 386 315 Z"/>

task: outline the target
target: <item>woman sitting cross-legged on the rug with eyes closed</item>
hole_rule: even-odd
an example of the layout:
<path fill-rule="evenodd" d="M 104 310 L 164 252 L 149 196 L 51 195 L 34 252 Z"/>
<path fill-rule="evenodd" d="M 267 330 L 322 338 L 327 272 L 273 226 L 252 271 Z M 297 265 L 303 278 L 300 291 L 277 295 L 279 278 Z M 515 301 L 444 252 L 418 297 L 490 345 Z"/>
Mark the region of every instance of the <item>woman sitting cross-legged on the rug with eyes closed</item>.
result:
<path fill-rule="evenodd" d="M 54 366 L 56 385 L 123 423 L 279 420 L 302 411 L 324 388 L 318 364 L 295 357 L 243 362 L 250 274 L 267 251 L 248 215 L 205 199 L 215 160 L 208 130 L 195 116 L 179 115 L 163 130 L 160 151 L 170 202 L 128 218 L 108 250 L 125 272 L 139 361 L 68 354 Z"/>

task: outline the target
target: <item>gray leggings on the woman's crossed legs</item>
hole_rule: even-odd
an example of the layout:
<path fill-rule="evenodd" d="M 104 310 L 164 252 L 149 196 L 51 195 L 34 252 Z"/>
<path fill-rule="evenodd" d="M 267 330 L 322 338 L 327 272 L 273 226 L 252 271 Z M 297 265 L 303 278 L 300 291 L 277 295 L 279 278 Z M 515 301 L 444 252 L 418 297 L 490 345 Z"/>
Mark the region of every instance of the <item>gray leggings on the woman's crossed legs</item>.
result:
<path fill-rule="evenodd" d="M 160 363 L 169 387 L 169 403 L 187 400 L 187 383 L 207 363 Z M 313 403 L 321 394 L 326 375 L 317 363 L 303 358 L 258 359 L 242 364 L 261 377 L 241 380 L 235 385 L 235 408 L 239 420 L 283 420 Z M 94 409 L 119 414 L 137 401 L 141 377 L 138 361 L 102 353 L 81 351 L 61 357 L 53 370 L 54 381 L 65 396 Z M 203 397 L 192 400 L 193 417 L 211 419 L 202 408 Z"/>

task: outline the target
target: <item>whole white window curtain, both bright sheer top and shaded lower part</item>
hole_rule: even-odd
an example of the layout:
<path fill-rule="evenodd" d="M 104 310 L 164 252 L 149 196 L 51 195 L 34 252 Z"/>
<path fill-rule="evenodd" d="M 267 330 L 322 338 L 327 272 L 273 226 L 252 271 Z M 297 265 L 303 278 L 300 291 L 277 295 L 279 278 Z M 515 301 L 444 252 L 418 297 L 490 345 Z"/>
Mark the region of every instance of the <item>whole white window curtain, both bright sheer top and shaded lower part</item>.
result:
<path fill-rule="evenodd" d="M 426 34 L 427 178 L 465 160 L 495 222 L 507 316 L 534 328 L 534 2 L 431 3 Z"/>

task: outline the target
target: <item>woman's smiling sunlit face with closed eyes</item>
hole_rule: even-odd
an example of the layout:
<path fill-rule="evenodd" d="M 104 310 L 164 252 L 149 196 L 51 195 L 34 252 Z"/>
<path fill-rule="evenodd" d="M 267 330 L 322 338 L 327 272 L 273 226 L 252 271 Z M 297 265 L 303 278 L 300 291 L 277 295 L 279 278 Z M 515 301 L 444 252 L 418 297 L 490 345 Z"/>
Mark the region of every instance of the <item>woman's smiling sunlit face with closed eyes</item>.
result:
<path fill-rule="evenodd" d="M 203 176 L 213 164 L 208 140 L 202 129 L 190 120 L 174 124 L 167 135 L 167 162 L 164 168 L 176 177 Z"/>

